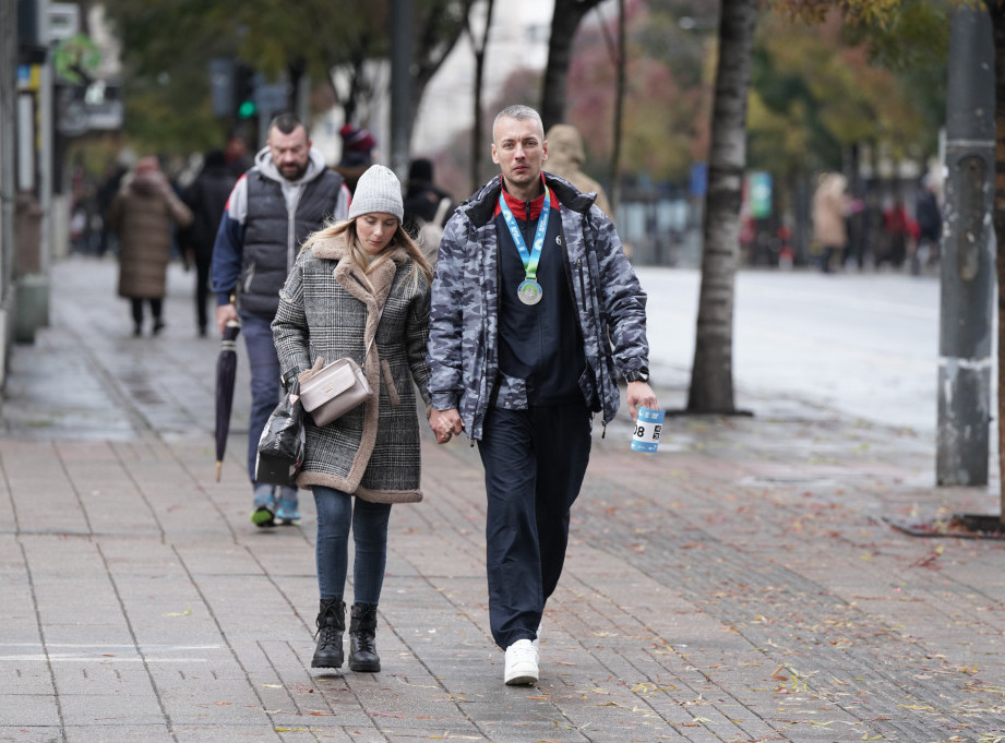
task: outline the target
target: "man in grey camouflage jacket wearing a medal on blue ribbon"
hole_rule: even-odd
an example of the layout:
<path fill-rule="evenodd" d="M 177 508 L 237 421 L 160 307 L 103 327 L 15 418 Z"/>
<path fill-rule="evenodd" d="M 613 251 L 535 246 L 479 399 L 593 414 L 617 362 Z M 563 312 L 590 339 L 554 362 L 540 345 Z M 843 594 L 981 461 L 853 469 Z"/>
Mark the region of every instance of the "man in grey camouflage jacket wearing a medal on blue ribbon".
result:
<path fill-rule="evenodd" d="M 538 679 L 538 630 L 562 572 L 593 414 L 613 419 L 619 373 L 633 418 L 636 406 L 658 406 L 645 292 L 596 194 L 543 172 L 547 153 L 537 111 L 500 112 L 501 175 L 447 223 L 430 310 L 430 426 L 440 443 L 466 430 L 479 444 L 490 622 L 507 684 Z"/>

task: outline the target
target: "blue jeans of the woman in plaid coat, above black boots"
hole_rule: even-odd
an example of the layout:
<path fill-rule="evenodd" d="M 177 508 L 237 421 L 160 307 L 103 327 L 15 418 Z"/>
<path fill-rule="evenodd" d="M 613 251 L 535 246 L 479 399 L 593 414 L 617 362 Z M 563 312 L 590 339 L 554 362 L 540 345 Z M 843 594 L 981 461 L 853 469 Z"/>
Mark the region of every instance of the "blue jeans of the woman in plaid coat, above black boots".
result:
<path fill-rule="evenodd" d="M 356 542 L 352 589 L 356 603 L 380 603 L 387 563 L 390 503 L 371 503 L 340 490 L 313 486 L 318 507 L 318 587 L 322 599 L 342 599 L 349 570 L 349 528 Z M 355 501 L 355 507 L 354 507 Z"/>

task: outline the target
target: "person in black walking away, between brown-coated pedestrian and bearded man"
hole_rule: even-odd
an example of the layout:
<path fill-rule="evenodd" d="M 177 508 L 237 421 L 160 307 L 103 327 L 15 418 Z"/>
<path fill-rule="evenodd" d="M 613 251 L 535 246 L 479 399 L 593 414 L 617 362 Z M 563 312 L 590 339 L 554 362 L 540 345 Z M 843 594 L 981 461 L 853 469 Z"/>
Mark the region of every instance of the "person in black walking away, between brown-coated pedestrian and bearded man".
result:
<path fill-rule="evenodd" d="M 222 149 L 205 154 L 202 170 L 186 189 L 184 202 L 192 209 L 192 224 L 183 233 L 186 257 L 195 266 L 195 315 L 199 336 L 206 336 L 210 324 L 210 266 L 213 262 L 213 243 L 219 229 L 227 199 L 237 177 L 227 165 Z"/>

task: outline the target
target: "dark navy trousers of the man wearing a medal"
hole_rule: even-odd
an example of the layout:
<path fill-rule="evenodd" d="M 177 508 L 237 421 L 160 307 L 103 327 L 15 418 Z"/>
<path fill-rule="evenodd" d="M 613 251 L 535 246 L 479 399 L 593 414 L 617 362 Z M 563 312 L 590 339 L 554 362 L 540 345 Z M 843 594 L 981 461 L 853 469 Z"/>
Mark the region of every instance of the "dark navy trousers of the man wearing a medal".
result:
<path fill-rule="evenodd" d="M 501 648 L 537 637 L 565 563 L 590 441 L 582 404 L 491 408 L 486 416 L 478 451 L 488 495 L 489 623 Z"/>

